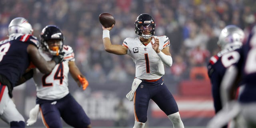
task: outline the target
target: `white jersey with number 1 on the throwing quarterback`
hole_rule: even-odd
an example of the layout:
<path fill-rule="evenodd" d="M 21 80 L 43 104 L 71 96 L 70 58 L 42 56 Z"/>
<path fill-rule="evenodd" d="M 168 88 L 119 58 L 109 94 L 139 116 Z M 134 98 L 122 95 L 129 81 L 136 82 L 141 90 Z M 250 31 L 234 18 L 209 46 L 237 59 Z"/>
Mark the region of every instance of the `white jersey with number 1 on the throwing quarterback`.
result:
<path fill-rule="evenodd" d="M 159 38 L 159 50 L 170 46 L 167 36 L 154 36 Z M 154 39 L 152 39 L 154 43 Z M 136 65 L 135 77 L 144 80 L 155 80 L 164 75 L 164 64 L 152 48 L 151 43 L 144 46 L 140 38 L 126 38 L 122 44 L 128 48 L 127 54 L 132 58 Z"/>

